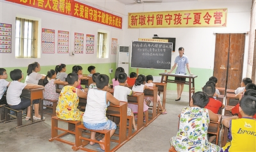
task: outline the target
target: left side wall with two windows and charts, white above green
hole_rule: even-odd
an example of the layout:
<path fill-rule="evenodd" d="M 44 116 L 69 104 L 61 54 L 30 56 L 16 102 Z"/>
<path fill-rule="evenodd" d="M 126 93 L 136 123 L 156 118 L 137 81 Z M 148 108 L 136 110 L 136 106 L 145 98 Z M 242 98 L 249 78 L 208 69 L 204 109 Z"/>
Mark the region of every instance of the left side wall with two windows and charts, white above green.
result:
<path fill-rule="evenodd" d="M 84 3 L 100 10 L 108 11 L 120 17 L 124 16 L 124 4 L 117 1 L 106 3 L 105 1 L 98 1 L 91 3 Z M 113 4 L 115 2 L 115 5 Z M 58 65 L 65 63 L 71 64 L 106 64 L 116 62 L 116 55 L 109 53 L 108 59 L 97 59 L 97 32 L 98 30 L 109 32 L 109 39 L 117 38 L 118 41 L 123 41 L 124 29 L 117 29 L 107 25 L 96 24 L 79 18 L 68 17 L 59 13 L 52 13 L 51 11 L 39 10 L 29 6 L 9 3 L 1 1 L 1 23 L 12 24 L 12 53 L 0 53 L 1 67 L 27 67 L 31 62 L 37 61 L 44 68 L 44 66 Z M 55 30 L 55 53 L 41 53 L 40 59 L 15 59 L 15 17 L 29 17 L 38 18 L 41 21 L 40 28 Z M 123 18 L 125 19 L 125 18 Z M 57 52 L 58 30 L 69 31 L 70 36 L 70 51 L 74 50 L 74 32 L 95 35 L 95 53 L 94 54 L 75 54 L 69 56 L 68 53 L 61 54 Z M 41 39 L 41 32 L 39 32 Z M 40 44 L 40 43 L 39 43 Z M 41 45 L 41 44 L 40 44 Z M 111 41 L 109 42 L 109 50 L 111 48 Z M 109 67 L 110 68 L 110 67 Z M 108 69 L 109 69 L 108 68 Z"/>

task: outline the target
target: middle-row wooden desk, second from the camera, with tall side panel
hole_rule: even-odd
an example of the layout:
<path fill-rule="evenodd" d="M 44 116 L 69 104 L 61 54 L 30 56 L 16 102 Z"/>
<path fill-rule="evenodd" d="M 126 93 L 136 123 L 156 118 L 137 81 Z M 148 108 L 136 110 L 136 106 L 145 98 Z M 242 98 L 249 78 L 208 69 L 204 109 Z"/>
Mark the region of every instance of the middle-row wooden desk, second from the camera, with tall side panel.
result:
<path fill-rule="evenodd" d="M 144 93 L 136 92 L 134 95 L 128 95 L 127 99 L 129 104 L 138 105 L 137 130 L 140 130 L 143 127 Z"/>

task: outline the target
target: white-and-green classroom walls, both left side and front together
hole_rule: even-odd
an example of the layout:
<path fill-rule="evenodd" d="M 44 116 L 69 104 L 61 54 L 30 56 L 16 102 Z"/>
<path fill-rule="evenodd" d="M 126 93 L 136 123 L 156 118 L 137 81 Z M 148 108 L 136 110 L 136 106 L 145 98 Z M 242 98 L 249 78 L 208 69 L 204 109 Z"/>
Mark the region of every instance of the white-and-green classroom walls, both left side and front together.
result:
<path fill-rule="evenodd" d="M 253 0 L 254 1 L 254 0 Z M 152 38 L 153 34 L 158 34 L 159 37 L 174 37 L 176 38 L 176 50 L 183 46 L 185 54 L 189 57 L 189 66 L 191 73 L 198 75 L 196 78 L 196 91 L 204 86 L 205 81 L 212 76 L 214 66 L 214 51 L 215 51 L 215 34 L 214 33 L 244 33 L 250 30 L 250 11 L 252 1 L 192 1 L 192 2 L 174 2 L 174 3 L 144 3 L 124 5 L 118 1 L 90 1 L 86 2 L 90 6 L 99 8 L 109 13 L 113 13 L 123 17 L 123 28 L 116 29 L 106 25 L 95 24 L 78 18 L 67 17 L 58 13 L 29 8 L 19 4 L 1 1 L 1 23 L 12 24 L 12 48 L 15 47 L 15 17 L 28 16 L 40 18 L 41 28 L 55 29 L 70 32 L 70 49 L 74 48 L 74 32 L 84 34 L 94 34 L 95 43 L 97 41 L 98 30 L 108 31 L 109 38 L 117 38 L 118 45 L 131 45 L 132 41 L 138 38 Z M 200 10 L 228 8 L 227 27 L 195 27 L 195 28 L 145 28 L 145 29 L 127 29 L 128 13 L 132 12 L 148 12 L 148 11 L 173 11 L 173 10 Z M 57 41 L 57 37 L 56 37 Z M 109 42 L 109 47 L 111 47 Z M 96 45 L 95 45 L 96 48 Z M 110 49 L 110 48 L 109 48 Z M 57 50 L 57 46 L 55 48 Z M 245 49 L 244 49 L 244 71 L 243 77 L 246 76 L 247 61 L 248 61 L 248 34 L 246 34 Z M 178 52 L 172 53 L 172 63 Z M 76 54 L 71 57 L 68 54 L 41 54 L 40 59 L 15 59 L 14 49 L 12 53 L 0 53 L 0 67 L 7 67 L 8 71 L 14 68 L 22 68 L 26 73 L 26 67 L 31 62 L 37 61 L 42 66 L 42 73 L 45 73 L 49 68 L 55 67 L 57 64 L 65 63 L 70 67 L 79 64 L 84 68 L 84 73 L 87 67 L 91 64 L 97 66 L 97 71 L 100 73 L 109 74 L 109 68 L 116 67 L 116 55 L 109 54 L 108 59 L 96 59 L 96 50 L 94 54 Z M 102 68 L 101 68 L 102 67 Z M 100 69 L 100 70 L 99 70 Z M 130 68 L 129 72 L 136 71 Z M 152 74 L 158 76 L 163 70 L 157 69 L 140 69 L 140 74 Z M 113 78 L 114 74 L 109 74 Z M 175 90 L 175 84 L 169 85 L 168 90 Z M 188 90 L 185 86 L 184 91 Z"/>

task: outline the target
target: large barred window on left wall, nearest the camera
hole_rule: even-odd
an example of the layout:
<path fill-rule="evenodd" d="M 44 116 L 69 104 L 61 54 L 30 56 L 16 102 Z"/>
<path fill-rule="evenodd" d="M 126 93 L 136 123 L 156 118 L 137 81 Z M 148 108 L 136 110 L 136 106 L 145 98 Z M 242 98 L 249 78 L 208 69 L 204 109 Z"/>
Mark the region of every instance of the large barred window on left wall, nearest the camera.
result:
<path fill-rule="evenodd" d="M 38 21 L 16 17 L 15 57 L 38 58 Z"/>

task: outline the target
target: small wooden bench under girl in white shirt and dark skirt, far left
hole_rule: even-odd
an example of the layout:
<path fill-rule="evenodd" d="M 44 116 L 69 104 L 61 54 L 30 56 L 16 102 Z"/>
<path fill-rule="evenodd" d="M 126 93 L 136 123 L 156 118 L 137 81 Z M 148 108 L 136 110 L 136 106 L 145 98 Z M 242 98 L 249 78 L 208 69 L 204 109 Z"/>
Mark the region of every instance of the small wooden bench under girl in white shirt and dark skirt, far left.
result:
<path fill-rule="evenodd" d="M 15 115 L 10 114 L 10 111 L 14 111 Z M 16 118 L 17 119 L 17 127 L 22 127 L 22 112 L 24 111 L 24 109 L 12 109 L 9 106 L 4 106 L 4 117 L 5 117 L 5 121 L 3 121 L 3 123 L 8 123 L 12 118 Z"/>

